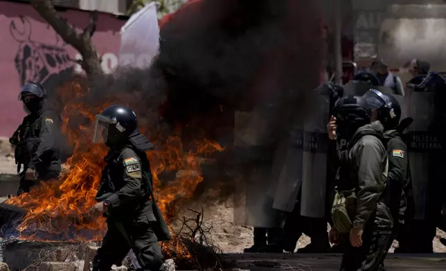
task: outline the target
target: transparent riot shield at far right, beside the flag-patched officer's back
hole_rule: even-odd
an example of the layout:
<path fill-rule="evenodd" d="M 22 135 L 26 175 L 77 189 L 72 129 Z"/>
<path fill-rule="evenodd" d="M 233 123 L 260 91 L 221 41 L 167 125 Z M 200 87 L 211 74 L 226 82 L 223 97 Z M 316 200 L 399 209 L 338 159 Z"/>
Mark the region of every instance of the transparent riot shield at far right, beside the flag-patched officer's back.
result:
<path fill-rule="evenodd" d="M 436 93 L 417 92 L 407 88 L 404 104 L 407 115 L 413 118 L 409 127 L 407 149 L 411 167 L 415 219 L 425 220 L 428 213 L 428 186 L 431 155 L 440 149 L 438 138 L 431 133 L 434 119 L 434 99 Z"/>

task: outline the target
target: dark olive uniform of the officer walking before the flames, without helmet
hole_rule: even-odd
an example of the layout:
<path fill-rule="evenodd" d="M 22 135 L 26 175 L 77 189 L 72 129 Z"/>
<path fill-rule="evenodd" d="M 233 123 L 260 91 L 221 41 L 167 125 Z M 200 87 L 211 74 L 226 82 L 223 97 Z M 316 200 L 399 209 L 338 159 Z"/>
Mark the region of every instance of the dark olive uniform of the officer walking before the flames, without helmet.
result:
<path fill-rule="evenodd" d="M 163 217 L 153 200 L 148 158 L 132 146 L 111 149 L 96 200 L 109 200 L 107 234 L 93 261 L 93 270 L 109 271 L 132 249 L 142 270 L 162 270 L 158 241 L 168 239 Z M 160 228 L 163 229 L 160 231 Z"/>

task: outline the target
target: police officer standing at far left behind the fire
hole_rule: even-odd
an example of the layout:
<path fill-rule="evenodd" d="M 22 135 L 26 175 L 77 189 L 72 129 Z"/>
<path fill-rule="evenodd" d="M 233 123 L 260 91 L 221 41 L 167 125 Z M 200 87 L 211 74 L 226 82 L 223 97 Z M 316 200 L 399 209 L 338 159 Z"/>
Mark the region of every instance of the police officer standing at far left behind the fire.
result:
<path fill-rule="evenodd" d="M 17 196 L 28 193 L 39 181 L 54 180 L 60 174 L 60 118 L 48 108 L 45 98 L 44 87 L 37 83 L 26 84 L 19 94 L 28 115 L 9 139 L 15 146 L 17 174 L 20 175 Z"/>

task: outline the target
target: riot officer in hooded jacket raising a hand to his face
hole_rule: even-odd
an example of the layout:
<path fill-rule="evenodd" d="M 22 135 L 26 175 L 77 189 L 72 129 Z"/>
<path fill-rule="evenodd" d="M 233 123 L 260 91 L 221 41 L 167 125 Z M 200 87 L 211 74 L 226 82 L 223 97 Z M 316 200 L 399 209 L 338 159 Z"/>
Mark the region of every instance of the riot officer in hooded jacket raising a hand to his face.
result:
<path fill-rule="evenodd" d="M 339 183 L 332 205 L 332 243 L 346 243 L 341 270 L 377 270 L 385 256 L 392 218 L 384 203 L 384 127 L 364 97 L 337 101 L 328 124 L 330 139 L 348 139 L 339 153 Z M 333 125 L 333 121 L 336 123 Z"/>

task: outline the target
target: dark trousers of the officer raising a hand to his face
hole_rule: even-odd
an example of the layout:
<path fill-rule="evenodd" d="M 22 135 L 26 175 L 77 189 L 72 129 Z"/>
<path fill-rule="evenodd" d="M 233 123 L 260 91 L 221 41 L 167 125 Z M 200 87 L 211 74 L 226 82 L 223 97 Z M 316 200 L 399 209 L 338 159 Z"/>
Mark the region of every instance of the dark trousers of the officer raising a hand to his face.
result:
<path fill-rule="evenodd" d="M 386 256 L 386 247 L 391 236 L 390 230 L 364 230 L 362 246 L 350 245 L 349 236 L 344 236 L 348 244 L 342 255 L 341 271 L 375 271 Z"/>

